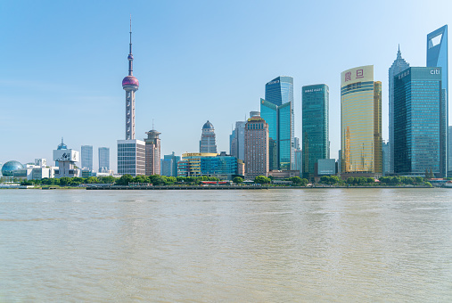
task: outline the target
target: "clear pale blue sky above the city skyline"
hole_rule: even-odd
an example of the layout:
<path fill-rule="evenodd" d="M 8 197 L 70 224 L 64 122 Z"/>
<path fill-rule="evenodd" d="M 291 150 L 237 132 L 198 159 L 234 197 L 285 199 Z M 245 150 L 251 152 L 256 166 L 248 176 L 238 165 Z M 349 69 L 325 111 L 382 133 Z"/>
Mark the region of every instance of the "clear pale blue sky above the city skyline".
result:
<path fill-rule="evenodd" d="M 158 130 L 161 155 L 198 152 L 215 127 L 229 152 L 235 121 L 259 111 L 265 84 L 291 76 L 295 136 L 301 87 L 330 88 L 331 157 L 341 149 L 341 71 L 374 65 L 388 139 L 388 69 L 398 47 L 425 66 L 426 36 L 451 23 L 452 1 L 3 1 L 0 2 L 0 162 L 33 162 L 62 137 L 69 148 L 125 138 L 132 15 L 136 138 Z M 451 23 L 452 24 L 452 23 Z M 449 115 L 449 121 L 452 121 Z"/>

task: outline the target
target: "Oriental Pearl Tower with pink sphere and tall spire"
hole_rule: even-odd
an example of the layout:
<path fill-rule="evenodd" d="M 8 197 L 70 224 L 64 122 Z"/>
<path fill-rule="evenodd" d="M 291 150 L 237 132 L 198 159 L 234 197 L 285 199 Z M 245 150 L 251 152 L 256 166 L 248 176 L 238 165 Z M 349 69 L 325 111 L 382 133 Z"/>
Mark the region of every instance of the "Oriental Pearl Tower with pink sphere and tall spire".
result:
<path fill-rule="evenodd" d="M 135 139 L 135 92 L 138 90 L 138 79 L 134 73 L 134 55 L 132 54 L 132 17 L 130 17 L 130 44 L 128 51 L 128 76 L 122 79 L 122 88 L 126 91 L 126 140 Z"/>

